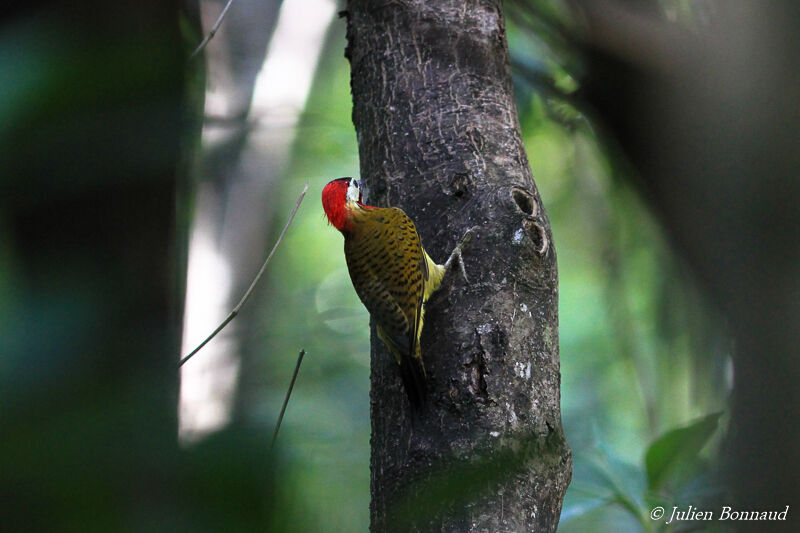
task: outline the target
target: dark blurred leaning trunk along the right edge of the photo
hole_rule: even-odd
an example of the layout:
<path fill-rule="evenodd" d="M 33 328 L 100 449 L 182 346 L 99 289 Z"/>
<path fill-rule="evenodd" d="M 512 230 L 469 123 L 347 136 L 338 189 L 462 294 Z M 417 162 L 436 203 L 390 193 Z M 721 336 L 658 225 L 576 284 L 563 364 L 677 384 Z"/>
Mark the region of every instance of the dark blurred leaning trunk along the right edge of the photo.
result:
<path fill-rule="evenodd" d="M 570 5 L 572 99 L 735 339 L 725 501 L 782 511 L 800 501 L 800 5 L 706 2 L 696 31 L 656 1 Z"/>

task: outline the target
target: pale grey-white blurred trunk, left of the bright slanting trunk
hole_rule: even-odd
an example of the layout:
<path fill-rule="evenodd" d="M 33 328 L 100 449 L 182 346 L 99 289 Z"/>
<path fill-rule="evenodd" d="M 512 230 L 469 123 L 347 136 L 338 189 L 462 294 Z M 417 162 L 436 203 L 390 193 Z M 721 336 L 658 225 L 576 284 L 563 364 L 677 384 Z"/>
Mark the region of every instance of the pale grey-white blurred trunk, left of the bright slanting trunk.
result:
<path fill-rule="evenodd" d="M 227 0 L 200 2 L 208 33 Z M 280 0 L 237 0 L 203 55 L 205 108 L 193 154 L 197 183 L 189 235 L 186 314 L 182 353 L 197 346 L 222 322 L 264 260 L 275 186 L 291 139 L 262 123 L 271 118 L 263 97 L 254 98 L 281 7 Z M 263 80 L 262 90 L 263 93 Z M 255 109 L 253 108 L 255 106 Z M 237 416 L 242 367 L 254 331 L 242 313 L 181 368 L 179 434 L 196 441 Z"/>

